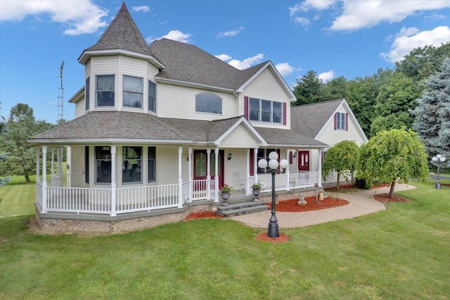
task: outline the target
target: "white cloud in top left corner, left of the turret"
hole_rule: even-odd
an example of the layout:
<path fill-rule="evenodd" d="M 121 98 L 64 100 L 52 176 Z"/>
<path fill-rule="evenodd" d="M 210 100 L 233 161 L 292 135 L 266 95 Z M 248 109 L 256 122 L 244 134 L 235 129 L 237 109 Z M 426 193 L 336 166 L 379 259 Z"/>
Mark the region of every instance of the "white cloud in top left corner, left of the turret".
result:
<path fill-rule="evenodd" d="M 90 0 L 79 1 L 0 1 L 0 21 L 22 21 L 28 15 L 37 19 L 50 16 L 52 22 L 67 26 L 65 35 L 82 35 L 98 31 L 108 24 L 103 17 L 108 15 L 107 9 L 102 9 Z"/>

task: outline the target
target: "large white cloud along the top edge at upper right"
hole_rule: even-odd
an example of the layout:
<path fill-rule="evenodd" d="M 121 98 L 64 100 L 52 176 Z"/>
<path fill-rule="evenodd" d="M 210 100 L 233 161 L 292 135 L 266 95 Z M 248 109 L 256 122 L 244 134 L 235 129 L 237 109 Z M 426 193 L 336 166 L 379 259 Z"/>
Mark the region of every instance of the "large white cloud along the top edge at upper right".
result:
<path fill-rule="evenodd" d="M 448 0 L 415 1 L 356 1 L 346 0 L 342 15 L 336 18 L 330 30 L 359 30 L 381 22 L 400 22 L 418 11 L 429 11 L 450 7 Z"/>

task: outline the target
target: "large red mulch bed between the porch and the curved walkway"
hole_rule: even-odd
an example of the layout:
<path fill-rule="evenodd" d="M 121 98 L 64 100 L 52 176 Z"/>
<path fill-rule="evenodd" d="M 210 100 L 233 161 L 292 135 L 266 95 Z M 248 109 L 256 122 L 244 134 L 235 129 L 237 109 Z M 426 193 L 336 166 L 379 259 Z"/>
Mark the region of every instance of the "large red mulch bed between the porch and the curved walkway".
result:
<path fill-rule="evenodd" d="M 319 209 L 333 208 L 349 204 L 349 201 L 347 200 L 333 197 L 326 197 L 322 201 L 319 201 L 319 203 L 316 203 L 316 196 L 304 197 L 304 200 L 307 201 L 307 205 L 298 205 L 298 198 L 278 201 L 275 205 L 275 209 L 276 211 L 283 212 L 318 211 Z M 266 203 L 266 205 L 272 209 L 271 203 Z"/>

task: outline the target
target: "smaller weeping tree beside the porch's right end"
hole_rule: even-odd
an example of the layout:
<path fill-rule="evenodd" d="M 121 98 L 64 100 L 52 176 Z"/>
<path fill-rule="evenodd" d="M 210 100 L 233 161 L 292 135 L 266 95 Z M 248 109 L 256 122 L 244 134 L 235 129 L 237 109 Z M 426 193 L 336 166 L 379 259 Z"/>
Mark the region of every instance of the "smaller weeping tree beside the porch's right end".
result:
<path fill-rule="evenodd" d="M 338 176 L 336 187 L 340 189 L 340 179 L 349 180 L 352 178 L 356 168 L 357 157 L 359 154 L 359 146 L 353 141 L 341 141 L 335 144 L 326 151 L 326 156 L 323 158 L 322 174 L 325 180 L 330 172 L 335 172 Z"/>

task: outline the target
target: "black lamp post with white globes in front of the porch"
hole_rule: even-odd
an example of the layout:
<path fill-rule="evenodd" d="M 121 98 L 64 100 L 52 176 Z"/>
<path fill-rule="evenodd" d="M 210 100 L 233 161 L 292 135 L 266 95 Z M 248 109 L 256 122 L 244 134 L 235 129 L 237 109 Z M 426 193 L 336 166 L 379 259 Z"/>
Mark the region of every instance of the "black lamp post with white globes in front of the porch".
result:
<path fill-rule="evenodd" d="M 275 215 L 275 175 L 276 173 L 284 174 L 286 171 L 286 168 L 289 166 L 289 162 L 285 159 L 282 159 L 279 163 L 279 166 L 282 170 L 278 169 L 278 154 L 275 151 L 272 151 L 269 154 L 269 170 L 266 170 L 264 173 L 271 173 L 272 174 L 272 215 L 269 220 L 269 228 L 267 230 L 267 237 L 279 237 L 280 232 L 278 231 L 278 220 L 276 220 Z M 266 159 L 262 158 L 258 161 L 258 166 L 261 169 L 266 169 L 267 167 L 267 161 Z"/>

